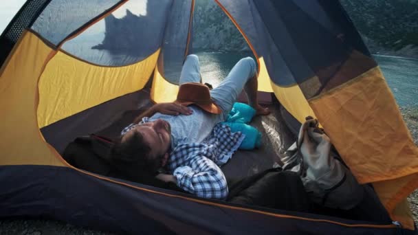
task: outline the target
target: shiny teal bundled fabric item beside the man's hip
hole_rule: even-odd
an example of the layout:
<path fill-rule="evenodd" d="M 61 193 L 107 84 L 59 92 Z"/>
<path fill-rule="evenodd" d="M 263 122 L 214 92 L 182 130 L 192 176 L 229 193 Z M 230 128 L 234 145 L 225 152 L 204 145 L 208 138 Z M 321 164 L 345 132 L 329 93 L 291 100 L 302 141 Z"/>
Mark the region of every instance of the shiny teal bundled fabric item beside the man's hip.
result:
<path fill-rule="evenodd" d="M 261 132 L 254 126 L 248 125 L 254 115 L 256 115 L 256 111 L 250 105 L 236 102 L 226 122 L 222 122 L 222 124 L 230 126 L 232 132 L 241 131 L 245 135 L 239 149 L 250 150 L 261 146 Z"/>

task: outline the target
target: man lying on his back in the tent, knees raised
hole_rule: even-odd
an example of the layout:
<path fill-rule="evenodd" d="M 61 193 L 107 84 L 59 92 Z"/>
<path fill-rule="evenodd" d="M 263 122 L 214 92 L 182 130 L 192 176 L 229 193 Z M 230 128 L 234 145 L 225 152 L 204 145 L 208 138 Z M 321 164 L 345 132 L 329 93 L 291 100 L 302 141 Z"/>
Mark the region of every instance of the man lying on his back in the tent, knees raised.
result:
<path fill-rule="evenodd" d="M 168 174 L 159 173 L 158 179 L 198 197 L 226 199 L 227 181 L 219 166 L 230 159 L 244 136 L 219 122 L 226 120 L 243 89 L 256 115 L 270 111 L 258 104 L 256 63 L 250 57 L 239 60 L 215 89 L 198 84 L 200 78 L 199 58 L 187 56 L 177 100 L 155 104 L 126 126 L 111 159 L 119 168 L 151 174 L 164 167 Z"/>

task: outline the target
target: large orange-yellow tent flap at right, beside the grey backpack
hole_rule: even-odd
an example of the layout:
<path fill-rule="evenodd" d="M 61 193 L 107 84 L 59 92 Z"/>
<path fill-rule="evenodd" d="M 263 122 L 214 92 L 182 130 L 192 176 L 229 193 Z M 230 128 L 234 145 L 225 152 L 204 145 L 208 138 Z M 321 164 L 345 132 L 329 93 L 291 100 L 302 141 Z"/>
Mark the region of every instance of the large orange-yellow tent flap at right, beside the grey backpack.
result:
<path fill-rule="evenodd" d="M 418 186 L 418 148 L 379 67 L 309 104 L 358 181 L 379 182 L 377 194 L 393 212 Z M 403 222 L 413 228 L 411 221 Z"/>

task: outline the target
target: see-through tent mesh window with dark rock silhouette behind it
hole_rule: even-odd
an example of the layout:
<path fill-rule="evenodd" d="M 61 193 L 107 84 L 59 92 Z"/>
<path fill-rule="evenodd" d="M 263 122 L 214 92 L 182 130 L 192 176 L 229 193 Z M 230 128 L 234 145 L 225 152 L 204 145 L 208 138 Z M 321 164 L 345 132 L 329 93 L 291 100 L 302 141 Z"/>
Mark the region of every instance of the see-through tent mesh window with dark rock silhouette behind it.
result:
<path fill-rule="evenodd" d="M 170 0 L 130 0 L 75 38 L 65 41 L 61 49 L 95 65 L 118 67 L 137 63 L 162 45 L 171 3 Z M 39 30 L 50 32 L 52 36 L 48 38 L 55 40 L 54 31 Z"/>

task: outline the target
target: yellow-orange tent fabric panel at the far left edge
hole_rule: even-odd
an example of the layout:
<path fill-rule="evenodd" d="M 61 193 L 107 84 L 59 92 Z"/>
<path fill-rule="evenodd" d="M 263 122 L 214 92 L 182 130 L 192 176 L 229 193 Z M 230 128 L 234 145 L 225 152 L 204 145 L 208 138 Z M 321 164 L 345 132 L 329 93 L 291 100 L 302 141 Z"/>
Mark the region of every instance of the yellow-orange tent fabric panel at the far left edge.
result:
<path fill-rule="evenodd" d="M 36 118 L 38 80 L 54 54 L 31 32 L 24 32 L 0 76 L 1 165 L 64 166 L 45 142 Z"/>

